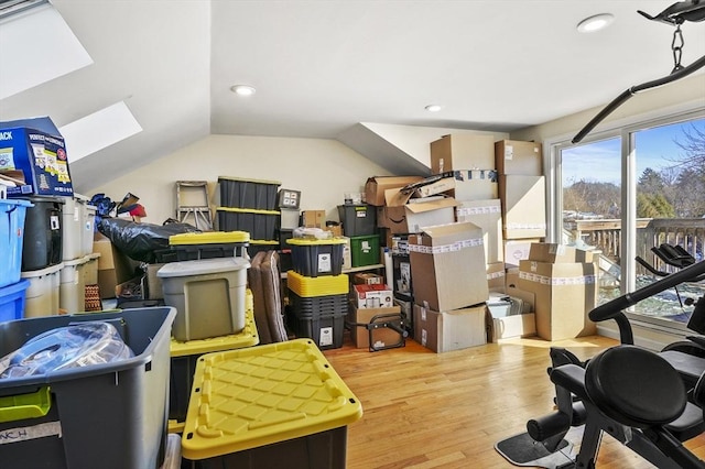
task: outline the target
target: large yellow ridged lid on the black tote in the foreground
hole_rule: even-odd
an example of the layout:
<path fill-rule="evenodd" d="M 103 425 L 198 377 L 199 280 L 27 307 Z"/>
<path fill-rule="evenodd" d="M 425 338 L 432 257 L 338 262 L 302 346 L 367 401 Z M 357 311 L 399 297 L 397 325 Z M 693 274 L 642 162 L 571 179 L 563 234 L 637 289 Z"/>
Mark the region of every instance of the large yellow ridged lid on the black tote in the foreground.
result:
<path fill-rule="evenodd" d="M 208 353 L 196 363 L 182 454 L 214 458 L 361 416 L 362 405 L 311 339 Z"/>

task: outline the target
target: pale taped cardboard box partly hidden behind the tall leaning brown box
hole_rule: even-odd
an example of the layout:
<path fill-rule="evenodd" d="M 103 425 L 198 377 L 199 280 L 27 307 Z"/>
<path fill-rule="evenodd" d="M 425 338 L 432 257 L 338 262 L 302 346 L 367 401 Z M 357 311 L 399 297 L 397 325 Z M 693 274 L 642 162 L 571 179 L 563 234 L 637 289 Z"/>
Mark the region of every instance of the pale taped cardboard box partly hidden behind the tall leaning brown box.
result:
<path fill-rule="evenodd" d="M 499 199 L 464 200 L 455 207 L 457 221 L 470 221 L 482 229 L 487 263 L 503 262 L 502 205 Z"/>

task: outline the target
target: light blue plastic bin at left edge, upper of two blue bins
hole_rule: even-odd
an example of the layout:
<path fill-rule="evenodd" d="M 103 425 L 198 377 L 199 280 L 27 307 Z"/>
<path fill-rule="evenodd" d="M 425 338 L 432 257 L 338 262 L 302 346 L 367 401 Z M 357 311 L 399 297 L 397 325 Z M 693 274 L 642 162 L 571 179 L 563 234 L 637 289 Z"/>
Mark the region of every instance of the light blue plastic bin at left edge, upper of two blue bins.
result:
<path fill-rule="evenodd" d="M 0 200 L 0 258 L 7 262 L 7 269 L 0 269 L 0 287 L 20 281 L 28 207 L 32 207 L 29 200 Z"/>

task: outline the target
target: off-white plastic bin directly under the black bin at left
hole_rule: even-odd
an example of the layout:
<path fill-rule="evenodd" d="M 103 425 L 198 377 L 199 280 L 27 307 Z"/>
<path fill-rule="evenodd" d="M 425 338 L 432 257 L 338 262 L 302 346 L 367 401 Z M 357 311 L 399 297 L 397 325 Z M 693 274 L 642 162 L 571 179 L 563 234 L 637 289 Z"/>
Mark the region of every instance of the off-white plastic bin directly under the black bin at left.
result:
<path fill-rule="evenodd" d="M 30 281 L 25 292 L 24 317 L 54 316 L 58 314 L 58 290 L 61 270 L 59 262 L 39 271 L 22 272 L 22 279 Z"/>

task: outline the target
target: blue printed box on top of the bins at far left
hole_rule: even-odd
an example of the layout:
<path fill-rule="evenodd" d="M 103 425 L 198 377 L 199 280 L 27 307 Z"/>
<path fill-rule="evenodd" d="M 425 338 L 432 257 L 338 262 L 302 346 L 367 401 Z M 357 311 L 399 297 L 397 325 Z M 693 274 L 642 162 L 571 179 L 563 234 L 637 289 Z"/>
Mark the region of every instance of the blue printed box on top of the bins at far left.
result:
<path fill-rule="evenodd" d="M 8 197 L 74 194 L 66 143 L 57 134 L 28 127 L 0 128 L 0 173 L 24 182 L 8 187 Z"/>

